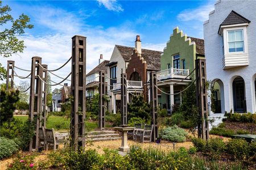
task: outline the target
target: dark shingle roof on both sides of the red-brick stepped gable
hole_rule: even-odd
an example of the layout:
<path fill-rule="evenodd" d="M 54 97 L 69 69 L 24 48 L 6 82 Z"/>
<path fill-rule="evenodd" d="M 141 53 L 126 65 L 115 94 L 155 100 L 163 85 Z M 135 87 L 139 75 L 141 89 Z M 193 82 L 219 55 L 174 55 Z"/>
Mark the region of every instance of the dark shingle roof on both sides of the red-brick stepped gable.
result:
<path fill-rule="evenodd" d="M 130 46 L 122 46 L 122 45 L 115 45 L 115 46 L 117 46 L 117 49 L 121 53 L 123 59 L 129 62 L 131 55 L 133 54 L 134 48 Z M 160 70 L 161 53 L 162 52 L 155 51 L 155 50 L 142 49 L 142 57 L 147 62 L 148 70 Z"/>

